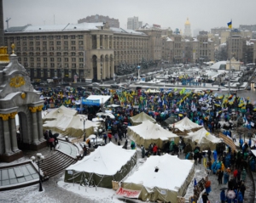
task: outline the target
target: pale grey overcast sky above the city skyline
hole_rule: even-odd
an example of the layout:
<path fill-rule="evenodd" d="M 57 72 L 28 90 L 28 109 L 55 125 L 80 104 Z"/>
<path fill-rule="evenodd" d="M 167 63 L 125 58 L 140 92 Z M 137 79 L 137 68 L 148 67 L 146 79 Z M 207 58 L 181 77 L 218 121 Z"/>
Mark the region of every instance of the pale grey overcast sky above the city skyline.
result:
<path fill-rule="evenodd" d="M 233 27 L 255 25 L 255 8 L 256 0 L 3 0 L 3 20 L 11 18 L 9 27 L 72 24 L 102 14 L 127 28 L 127 18 L 137 16 L 143 24 L 183 31 L 188 17 L 193 34 L 227 26 L 231 19 Z"/>

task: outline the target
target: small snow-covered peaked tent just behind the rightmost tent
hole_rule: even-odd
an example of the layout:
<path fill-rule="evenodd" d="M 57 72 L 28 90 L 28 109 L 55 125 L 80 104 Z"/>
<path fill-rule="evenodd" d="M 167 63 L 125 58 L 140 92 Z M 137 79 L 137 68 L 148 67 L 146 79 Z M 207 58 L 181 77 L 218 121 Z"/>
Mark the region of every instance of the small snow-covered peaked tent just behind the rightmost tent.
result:
<path fill-rule="evenodd" d="M 195 132 L 201 129 L 202 126 L 197 123 L 190 121 L 186 116 L 182 120 L 177 121 L 170 125 L 170 127 L 174 127 L 173 133 L 178 135 L 187 135 L 188 133 Z"/>

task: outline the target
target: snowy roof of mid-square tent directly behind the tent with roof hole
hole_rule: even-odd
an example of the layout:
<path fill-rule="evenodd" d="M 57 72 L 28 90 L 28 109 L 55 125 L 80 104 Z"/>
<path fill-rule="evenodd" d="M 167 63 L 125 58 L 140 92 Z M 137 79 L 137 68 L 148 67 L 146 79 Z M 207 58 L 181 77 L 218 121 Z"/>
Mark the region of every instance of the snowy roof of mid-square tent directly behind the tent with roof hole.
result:
<path fill-rule="evenodd" d="M 129 127 L 131 131 L 137 133 L 143 139 L 162 139 L 166 140 L 167 138 L 177 138 L 178 136 L 168 130 L 165 130 L 163 127 L 160 127 L 159 124 L 155 124 L 151 121 L 143 121 L 142 124 L 138 126 Z"/>

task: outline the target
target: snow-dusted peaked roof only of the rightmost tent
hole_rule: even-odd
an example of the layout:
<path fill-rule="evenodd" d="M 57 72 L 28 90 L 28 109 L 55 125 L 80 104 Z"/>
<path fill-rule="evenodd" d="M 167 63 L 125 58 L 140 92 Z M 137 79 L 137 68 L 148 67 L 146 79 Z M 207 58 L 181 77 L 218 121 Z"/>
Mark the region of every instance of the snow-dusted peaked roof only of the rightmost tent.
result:
<path fill-rule="evenodd" d="M 194 133 L 189 133 L 189 135 L 186 136 L 185 138 L 191 139 L 192 142 L 196 142 L 198 144 L 207 143 L 207 142 L 217 144 L 222 141 L 222 139 L 216 138 L 214 135 L 207 132 L 206 128 L 204 127 Z"/>

